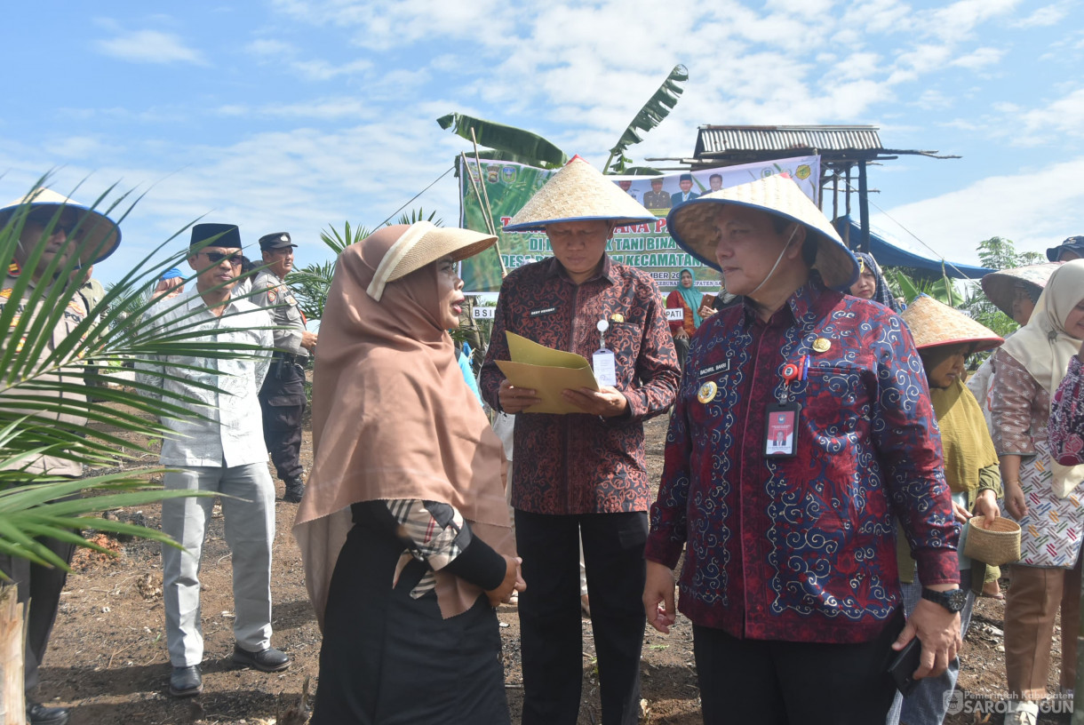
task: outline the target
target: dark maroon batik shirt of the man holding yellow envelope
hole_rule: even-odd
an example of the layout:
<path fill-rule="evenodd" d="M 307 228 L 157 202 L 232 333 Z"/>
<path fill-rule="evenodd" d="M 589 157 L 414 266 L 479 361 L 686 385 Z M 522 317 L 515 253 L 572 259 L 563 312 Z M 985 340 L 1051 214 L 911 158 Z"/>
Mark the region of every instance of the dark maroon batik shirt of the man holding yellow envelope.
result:
<path fill-rule="evenodd" d="M 551 258 L 508 274 L 494 314 L 479 387 L 496 410 L 504 379 L 496 361 L 509 359 L 505 331 L 591 361 L 599 346 L 599 320 L 609 325 L 605 337 L 615 354 L 615 387 L 629 402 L 625 415 L 614 418 L 517 414 L 512 505 L 532 514 L 646 512 L 643 422 L 670 406 L 681 375 L 655 282 L 604 256 L 599 274 L 576 285 Z"/>

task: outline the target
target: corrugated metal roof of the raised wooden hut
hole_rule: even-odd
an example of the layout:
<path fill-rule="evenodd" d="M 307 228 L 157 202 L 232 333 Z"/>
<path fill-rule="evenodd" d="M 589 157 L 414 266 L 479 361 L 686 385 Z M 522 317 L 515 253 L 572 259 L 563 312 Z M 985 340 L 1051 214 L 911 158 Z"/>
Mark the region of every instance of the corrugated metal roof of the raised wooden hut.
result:
<path fill-rule="evenodd" d="M 701 126 L 693 155 L 799 148 L 879 151 L 877 131 L 876 126 Z"/>

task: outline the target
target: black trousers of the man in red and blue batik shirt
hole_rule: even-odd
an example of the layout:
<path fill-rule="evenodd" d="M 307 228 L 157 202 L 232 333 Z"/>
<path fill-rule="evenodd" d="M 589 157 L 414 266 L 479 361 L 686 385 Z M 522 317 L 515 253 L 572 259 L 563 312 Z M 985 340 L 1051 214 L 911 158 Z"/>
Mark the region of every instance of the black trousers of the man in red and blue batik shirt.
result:
<path fill-rule="evenodd" d="M 888 674 L 901 610 L 873 640 L 854 645 L 737 639 L 693 626 L 705 725 L 872 725 L 895 695 Z"/>

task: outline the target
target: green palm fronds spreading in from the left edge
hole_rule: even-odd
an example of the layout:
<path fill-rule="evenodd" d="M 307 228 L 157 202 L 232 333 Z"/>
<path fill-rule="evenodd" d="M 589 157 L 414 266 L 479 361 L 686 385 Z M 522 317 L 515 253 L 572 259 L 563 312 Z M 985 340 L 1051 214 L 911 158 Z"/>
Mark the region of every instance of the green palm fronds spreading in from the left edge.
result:
<path fill-rule="evenodd" d="M 48 181 L 47 174 L 35 187 Z M 122 220 L 139 198 L 122 193 L 107 204 L 107 196 L 115 194 L 111 187 L 88 207 Z M 78 293 L 85 279 L 79 255 L 54 256 L 48 264 L 41 263 L 44 241 L 60 213 L 44 225 L 41 238 L 21 243 L 28 234 L 29 211 L 29 205 L 16 208 L 0 226 L 0 269 L 11 269 L 16 259 L 22 267 L 10 286 L 0 290 L 0 553 L 63 566 L 35 540 L 49 535 L 90 545 L 75 533 L 88 527 L 170 543 L 158 531 L 87 516 L 193 494 L 167 492 L 141 478 L 162 469 L 73 480 L 37 472 L 39 468 L 30 464 L 42 455 L 93 466 L 139 463 L 152 453 L 151 445 L 133 442 L 126 435 L 160 439 L 168 432 L 163 420 L 191 417 L 193 405 L 199 402 L 169 392 L 166 381 L 183 379 L 190 386 L 221 392 L 179 376 L 217 374 L 217 360 L 263 357 L 270 351 L 230 342 L 220 338 L 218 331 L 203 329 L 194 319 L 198 306 L 186 312 L 179 307 L 185 303 L 183 298 L 152 298 L 150 290 L 162 272 L 191 254 L 188 245 L 178 241 L 183 229 L 146 257 L 130 262 L 124 277 L 106 289 L 93 309 L 86 310 Z M 170 247 L 177 250 L 170 254 Z M 37 269 L 42 270 L 40 275 L 33 273 Z M 166 328 L 162 320 L 169 310 L 180 312 L 179 321 Z M 67 334 L 54 335 L 62 323 Z M 178 373 L 163 372 L 156 384 L 136 381 L 122 388 L 95 389 L 92 399 L 86 397 L 88 365 L 120 366 L 132 359 L 153 364 L 169 354 L 185 354 L 205 364 L 175 365 Z M 103 495 L 65 501 L 80 492 L 103 491 Z"/>

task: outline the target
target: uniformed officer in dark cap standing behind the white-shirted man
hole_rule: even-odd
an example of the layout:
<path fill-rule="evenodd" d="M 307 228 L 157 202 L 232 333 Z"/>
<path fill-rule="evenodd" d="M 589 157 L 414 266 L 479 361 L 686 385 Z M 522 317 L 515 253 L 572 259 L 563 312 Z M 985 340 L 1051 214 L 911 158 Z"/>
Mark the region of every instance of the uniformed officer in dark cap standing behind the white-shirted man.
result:
<path fill-rule="evenodd" d="M 273 331 L 274 358 L 260 389 L 263 410 L 263 440 L 279 478 L 286 484 L 283 501 L 296 504 L 305 492 L 301 451 L 301 414 L 305 413 L 305 365 L 317 348 L 317 334 L 305 328 L 305 313 L 283 282 L 294 269 L 294 248 L 288 232 L 260 237 L 267 266 L 253 280 L 251 300 L 271 313 L 273 324 L 288 329 Z"/>

